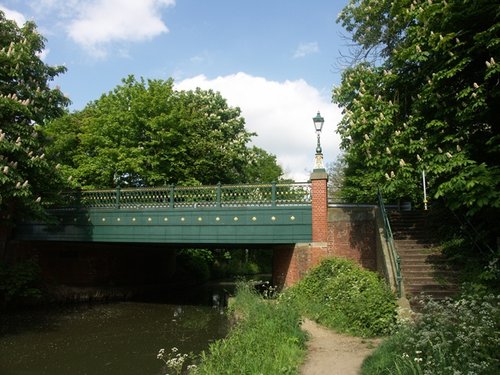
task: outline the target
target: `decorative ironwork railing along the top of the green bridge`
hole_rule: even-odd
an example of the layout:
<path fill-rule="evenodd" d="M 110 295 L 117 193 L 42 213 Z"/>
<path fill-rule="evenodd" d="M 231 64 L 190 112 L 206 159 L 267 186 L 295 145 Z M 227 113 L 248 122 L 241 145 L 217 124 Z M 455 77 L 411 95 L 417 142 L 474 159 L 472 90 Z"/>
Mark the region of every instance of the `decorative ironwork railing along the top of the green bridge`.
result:
<path fill-rule="evenodd" d="M 309 183 L 165 186 L 63 193 L 50 208 L 198 208 L 311 204 Z"/>

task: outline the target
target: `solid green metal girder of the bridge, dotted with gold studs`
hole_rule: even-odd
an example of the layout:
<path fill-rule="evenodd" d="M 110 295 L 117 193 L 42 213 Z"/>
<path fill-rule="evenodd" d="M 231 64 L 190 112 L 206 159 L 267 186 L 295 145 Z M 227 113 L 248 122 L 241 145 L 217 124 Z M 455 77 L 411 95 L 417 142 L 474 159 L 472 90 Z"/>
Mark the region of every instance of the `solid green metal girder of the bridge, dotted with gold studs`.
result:
<path fill-rule="evenodd" d="M 312 240 L 311 206 L 52 210 L 56 224 L 19 223 L 24 241 L 292 244 Z"/>

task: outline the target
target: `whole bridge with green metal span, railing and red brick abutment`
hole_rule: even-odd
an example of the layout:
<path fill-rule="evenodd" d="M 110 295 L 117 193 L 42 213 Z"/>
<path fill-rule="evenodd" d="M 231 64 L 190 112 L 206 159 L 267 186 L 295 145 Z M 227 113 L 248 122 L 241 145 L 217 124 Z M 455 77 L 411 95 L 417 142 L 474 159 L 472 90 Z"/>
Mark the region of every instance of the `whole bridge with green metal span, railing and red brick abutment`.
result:
<path fill-rule="evenodd" d="M 308 183 L 74 191 L 46 206 L 51 220 L 18 222 L 12 238 L 19 254 L 40 256 L 52 264 L 48 270 L 67 269 L 70 275 L 84 272 L 87 263 L 104 262 L 107 245 L 137 244 L 141 254 L 141 244 L 150 243 L 164 258 L 175 257 L 167 248 L 190 246 L 269 249 L 275 285 L 295 283 L 328 256 L 351 258 L 372 270 L 382 267 L 391 278 L 385 250 L 378 250 L 385 248 L 379 211 L 329 207 L 327 179 L 324 169 L 315 169 Z M 75 250 L 82 246 L 84 251 Z M 123 258 L 124 251 L 116 256 Z M 171 259 L 165 259 L 168 268 Z"/>

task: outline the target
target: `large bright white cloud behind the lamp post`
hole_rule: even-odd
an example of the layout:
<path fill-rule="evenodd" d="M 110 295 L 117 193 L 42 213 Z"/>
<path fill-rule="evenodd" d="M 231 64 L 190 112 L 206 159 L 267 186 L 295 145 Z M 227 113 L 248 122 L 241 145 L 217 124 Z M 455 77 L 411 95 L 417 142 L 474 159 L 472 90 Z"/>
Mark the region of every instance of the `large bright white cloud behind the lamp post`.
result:
<path fill-rule="evenodd" d="M 276 82 L 240 72 L 215 79 L 199 75 L 175 86 L 179 90 L 213 89 L 230 106 L 240 107 L 247 130 L 257 133 L 253 143 L 275 154 L 288 177 L 296 181 L 308 180 L 314 167 L 316 135 L 312 118 L 318 110 L 325 118 L 321 134 L 325 162 L 338 154 L 335 128 L 340 109 L 304 80 Z"/>

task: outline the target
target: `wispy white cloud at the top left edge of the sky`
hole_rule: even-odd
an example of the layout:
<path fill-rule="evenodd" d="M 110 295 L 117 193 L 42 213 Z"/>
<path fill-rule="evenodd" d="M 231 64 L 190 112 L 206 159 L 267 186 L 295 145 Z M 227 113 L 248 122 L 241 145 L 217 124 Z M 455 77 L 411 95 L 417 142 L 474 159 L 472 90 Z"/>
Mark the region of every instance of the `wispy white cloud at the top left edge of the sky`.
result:
<path fill-rule="evenodd" d="M 102 56 L 111 42 L 136 42 L 168 32 L 160 8 L 175 0 L 96 0 L 80 2 L 69 36 L 90 52 Z"/>

